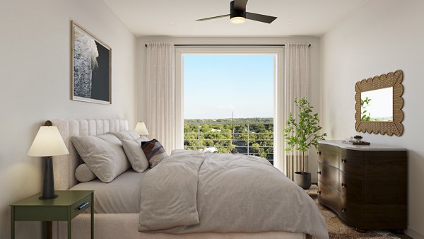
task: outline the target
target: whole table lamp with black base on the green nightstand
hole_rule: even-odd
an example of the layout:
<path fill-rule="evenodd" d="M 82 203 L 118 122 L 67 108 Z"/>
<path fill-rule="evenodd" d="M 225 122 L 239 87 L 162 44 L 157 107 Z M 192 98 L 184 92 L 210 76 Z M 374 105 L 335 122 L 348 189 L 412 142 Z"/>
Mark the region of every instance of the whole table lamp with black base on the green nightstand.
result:
<path fill-rule="evenodd" d="M 43 180 L 42 197 L 40 199 L 54 199 L 54 177 L 52 156 L 69 154 L 64 140 L 61 138 L 57 127 L 47 121 L 45 126 L 40 127 L 35 136 L 33 144 L 28 151 L 28 156 L 43 157 Z"/>

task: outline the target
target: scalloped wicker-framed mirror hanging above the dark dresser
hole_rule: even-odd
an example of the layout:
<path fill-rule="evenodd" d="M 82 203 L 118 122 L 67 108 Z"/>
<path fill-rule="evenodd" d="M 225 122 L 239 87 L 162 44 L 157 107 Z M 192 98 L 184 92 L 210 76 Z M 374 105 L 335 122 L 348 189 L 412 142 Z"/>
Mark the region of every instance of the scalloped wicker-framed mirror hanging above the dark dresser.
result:
<path fill-rule="evenodd" d="M 374 76 L 355 84 L 357 132 L 401 136 L 404 132 L 404 73 L 401 70 Z"/>

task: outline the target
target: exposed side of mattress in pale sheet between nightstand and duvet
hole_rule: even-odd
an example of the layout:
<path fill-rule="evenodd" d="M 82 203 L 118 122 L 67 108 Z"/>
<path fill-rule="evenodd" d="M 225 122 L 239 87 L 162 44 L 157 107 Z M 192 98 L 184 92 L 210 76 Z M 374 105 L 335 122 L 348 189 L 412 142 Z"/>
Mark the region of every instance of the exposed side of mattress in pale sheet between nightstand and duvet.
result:
<path fill-rule="evenodd" d="M 81 182 L 70 190 L 94 190 L 94 211 L 96 214 L 131 214 L 140 212 L 140 185 L 148 172 L 137 173 L 127 170 L 112 182 L 99 179 Z"/>

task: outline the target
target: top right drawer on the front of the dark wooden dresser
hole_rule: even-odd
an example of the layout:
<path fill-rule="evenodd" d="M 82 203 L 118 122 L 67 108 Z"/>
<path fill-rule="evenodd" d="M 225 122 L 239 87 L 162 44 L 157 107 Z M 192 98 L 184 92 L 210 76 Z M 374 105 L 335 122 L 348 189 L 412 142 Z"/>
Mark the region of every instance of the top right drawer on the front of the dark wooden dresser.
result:
<path fill-rule="evenodd" d="M 340 149 L 340 169 L 352 175 L 363 175 L 363 151 Z"/>

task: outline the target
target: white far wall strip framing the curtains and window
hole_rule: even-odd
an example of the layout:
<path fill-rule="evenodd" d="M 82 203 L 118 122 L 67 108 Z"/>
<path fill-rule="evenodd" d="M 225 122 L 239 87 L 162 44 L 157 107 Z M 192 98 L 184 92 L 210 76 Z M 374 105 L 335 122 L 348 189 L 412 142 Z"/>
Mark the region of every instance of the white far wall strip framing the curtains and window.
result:
<path fill-rule="evenodd" d="M 310 43 L 311 60 L 310 60 L 310 101 L 314 105 L 315 110 L 319 111 L 319 80 L 320 80 L 320 40 L 319 37 L 139 37 L 137 39 L 137 66 L 138 66 L 138 104 L 140 105 L 137 115 L 139 120 L 146 120 L 146 47 L 148 42 L 173 42 L 177 45 L 257 45 L 257 44 L 274 44 L 280 45 L 285 43 Z M 313 149 L 311 151 L 310 172 L 317 172 L 317 153 Z M 317 182 L 316 173 L 312 173 L 312 182 Z"/>

